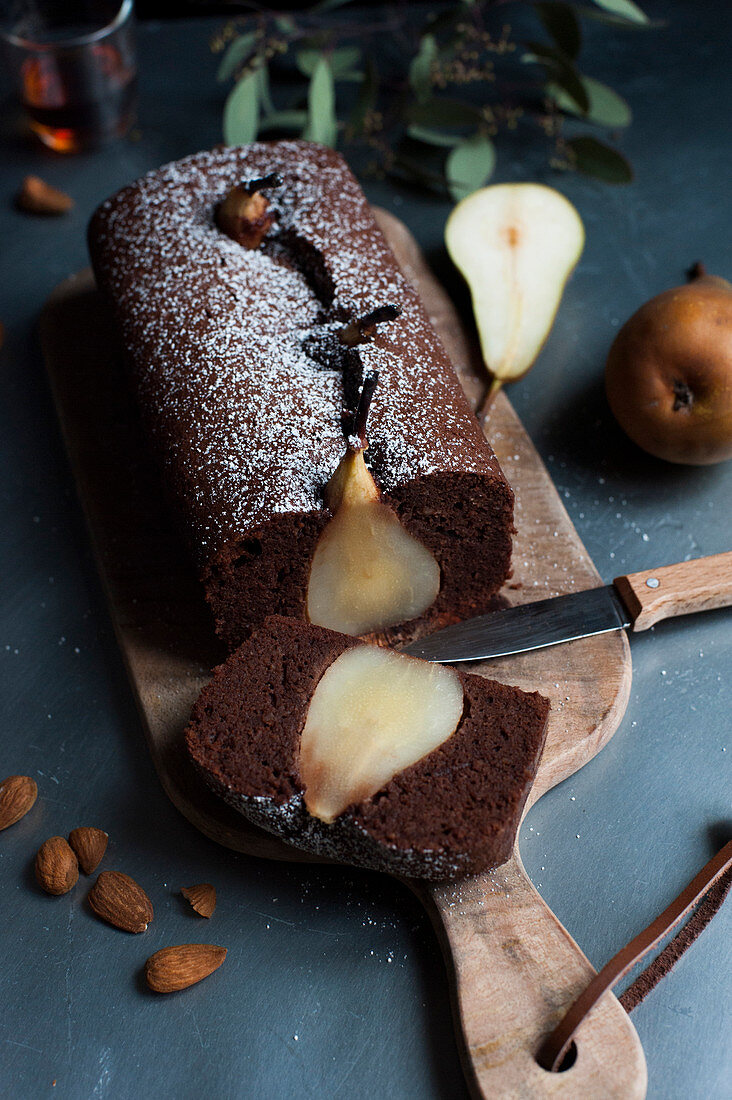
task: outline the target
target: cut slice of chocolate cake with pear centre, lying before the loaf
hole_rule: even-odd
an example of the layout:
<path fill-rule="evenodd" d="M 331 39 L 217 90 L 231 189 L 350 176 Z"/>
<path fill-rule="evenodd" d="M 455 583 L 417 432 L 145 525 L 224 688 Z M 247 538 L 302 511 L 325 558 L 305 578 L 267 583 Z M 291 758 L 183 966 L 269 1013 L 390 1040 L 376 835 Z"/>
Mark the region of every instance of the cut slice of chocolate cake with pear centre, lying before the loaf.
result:
<path fill-rule="evenodd" d="M 445 879 L 509 858 L 549 704 L 272 616 L 216 669 L 186 732 L 208 784 L 307 851 Z"/>

